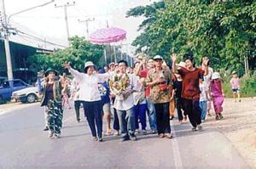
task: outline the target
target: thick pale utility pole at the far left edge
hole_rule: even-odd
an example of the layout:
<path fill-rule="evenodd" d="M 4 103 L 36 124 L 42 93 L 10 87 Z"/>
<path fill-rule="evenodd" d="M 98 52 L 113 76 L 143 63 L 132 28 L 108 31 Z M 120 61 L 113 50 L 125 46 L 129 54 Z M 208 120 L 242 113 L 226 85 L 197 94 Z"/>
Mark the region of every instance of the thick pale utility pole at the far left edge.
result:
<path fill-rule="evenodd" d="M 9 31 L 5 14 L 4 0 L 2 0 L 2 12 L 3 12 L 3 39 L 4 39 L 4 48 L 6 55 L 6 64 L 7 64 L 7 76 L 9 80 L 13 80 L 13 68 L 12 68 L 12 59 L 9 48 Z"/>

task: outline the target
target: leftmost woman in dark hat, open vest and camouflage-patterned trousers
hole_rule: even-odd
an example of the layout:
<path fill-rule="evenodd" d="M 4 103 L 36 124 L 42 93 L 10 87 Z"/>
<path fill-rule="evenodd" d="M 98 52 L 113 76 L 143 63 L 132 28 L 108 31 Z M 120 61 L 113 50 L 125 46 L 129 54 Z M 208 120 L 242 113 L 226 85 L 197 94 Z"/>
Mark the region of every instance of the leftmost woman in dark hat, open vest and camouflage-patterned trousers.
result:
<path fill-rule="evenodd" d="M 49 138 L 60 138 L 63 110 L 61 106 L 61 82 L 56 81 L 57 71 L 47 70 L 44 74 L 43 98 L 41 106 L 45 106 L 48 115 Z"/>

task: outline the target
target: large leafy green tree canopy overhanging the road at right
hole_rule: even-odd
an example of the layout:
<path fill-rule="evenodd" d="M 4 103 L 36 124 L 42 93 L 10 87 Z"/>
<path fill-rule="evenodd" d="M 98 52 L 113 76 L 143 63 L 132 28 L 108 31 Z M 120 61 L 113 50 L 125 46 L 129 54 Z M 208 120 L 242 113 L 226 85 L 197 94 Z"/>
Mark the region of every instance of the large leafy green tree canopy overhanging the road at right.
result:
<path fill-rule="evenodd" d="M 151 20 L 132 45 L 150 47 L 151 56 L 167 60 L 177 53 L 179 59 L 191 51 L 197 61 L 211 59 L 215 69 L 244 71 L 244 58 L 256 58 L 256 1 L 201 0 L 165 1 L 163 8 L 132 8 L 130 16 L 143 15 Z M 154 4 L 153 4 L 154 5 Z M 133 12 L 133 13 L 132 13 Z M 250 68 L 256 66 L 250 62 Z"/>

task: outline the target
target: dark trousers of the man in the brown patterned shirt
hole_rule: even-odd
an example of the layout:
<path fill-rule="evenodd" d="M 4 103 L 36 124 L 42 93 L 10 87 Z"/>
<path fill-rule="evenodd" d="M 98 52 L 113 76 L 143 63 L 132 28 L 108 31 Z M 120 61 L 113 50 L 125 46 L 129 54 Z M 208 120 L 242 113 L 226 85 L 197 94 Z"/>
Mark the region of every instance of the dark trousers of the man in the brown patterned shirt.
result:
<path fill-rule="evenodd" d="M 171 133 L 169 102 L 154 104 L 158 134 Z"/>

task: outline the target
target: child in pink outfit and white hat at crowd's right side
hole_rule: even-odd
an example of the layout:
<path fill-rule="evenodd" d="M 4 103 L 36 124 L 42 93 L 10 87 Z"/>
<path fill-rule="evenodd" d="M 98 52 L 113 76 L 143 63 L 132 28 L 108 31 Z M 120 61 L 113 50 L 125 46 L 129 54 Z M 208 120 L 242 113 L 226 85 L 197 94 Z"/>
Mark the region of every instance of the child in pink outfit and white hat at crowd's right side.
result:
<path fill-rule="evenodd" d="M 218 72 L 212 74 L 212 82 L 210 84 L 210 91 L 212 94 L 213 107 L 216 114 L 216 121 L 223 119 L 221 114 L 223 111 L 222 104 L 224 102 L 224 92 L 222 88 L 222 82 L 220 80 L 220 75 Z"/>

